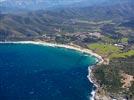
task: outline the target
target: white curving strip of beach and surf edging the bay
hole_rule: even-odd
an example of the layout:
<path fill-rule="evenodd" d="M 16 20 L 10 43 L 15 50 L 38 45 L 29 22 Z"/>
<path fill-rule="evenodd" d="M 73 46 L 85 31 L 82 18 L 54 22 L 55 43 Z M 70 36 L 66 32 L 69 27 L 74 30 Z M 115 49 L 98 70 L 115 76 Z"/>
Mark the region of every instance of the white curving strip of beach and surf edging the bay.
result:
<path fill-rule="evenodd" d="M 75 51 L 79 51 L 82 53 L 86 53 L 89 54 L 91 56 L 94 56 L 97 58 L 97 62 L 96 64 L 102 64 L 104 62 L 103 58 L 94 53 L 92 50 L 86 49 L 86 48 L 82 48 L 80 46 L 74 46 L 74 45 L 66 45 L 66 44 L 57 44 L 57 43 L 48 43 L 45 41 L 6 41 L 6 42 L 0 42 L 0 43 L 15 43 L 15 44 L 35 44 L 35 45 L 43 45 L 43 46 L 50 46 L 50 47 L 59 47 L 59 48 L 66 48 L 66 49 L 71 49 L 71 50 L 75 50 Z M 95 64 L 95 65 L 96 65 Z M 87 78 L 89 79 L 89 81 L 94 84 L 94 86 L 96 88 L 98 88 L 98 85 L 94 82 L 93 78 L 92 78 L 92 68 L 95 66 L 90 66 L 88 67 L 88 75 Z M 96 95 L 96 90 L 92 90 L 91 95 L 92 97 L 90 98 L 91 100 L 94 100 L 95 95 Z"/>

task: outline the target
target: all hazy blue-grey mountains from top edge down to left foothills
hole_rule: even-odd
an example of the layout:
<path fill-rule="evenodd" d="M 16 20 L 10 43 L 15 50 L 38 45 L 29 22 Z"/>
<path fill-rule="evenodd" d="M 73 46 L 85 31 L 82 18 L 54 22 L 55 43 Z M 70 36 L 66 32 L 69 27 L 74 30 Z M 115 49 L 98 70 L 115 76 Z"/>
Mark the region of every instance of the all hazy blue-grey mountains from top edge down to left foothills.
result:
<path fill-rule="evenodd" d="M 1 0 L 0 6 L 2 39 L 41 36 L 56 33 L 55 29 L 59 28 L 64 32 L 74 32 L 80 28 L 89 30 L 92 26 L 90 23 L 85 26 L 83 22 L 75 25 L 76 20 L 120 23 L 134 19 L 134 0 Z M 131 23 L 129 26 L 128 23 L 121 25 L 133 27 Z"/>

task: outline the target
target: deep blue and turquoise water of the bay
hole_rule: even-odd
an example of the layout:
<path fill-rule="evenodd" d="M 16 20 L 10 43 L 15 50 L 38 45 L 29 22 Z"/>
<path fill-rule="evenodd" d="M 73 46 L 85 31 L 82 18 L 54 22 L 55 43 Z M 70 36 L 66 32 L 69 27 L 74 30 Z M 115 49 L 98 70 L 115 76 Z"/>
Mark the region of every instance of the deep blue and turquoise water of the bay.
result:
<path fill-rule="evenodd" d="M 0 100 L 89 100 L 95 62 L 65 48 L 0 44 Z"/>

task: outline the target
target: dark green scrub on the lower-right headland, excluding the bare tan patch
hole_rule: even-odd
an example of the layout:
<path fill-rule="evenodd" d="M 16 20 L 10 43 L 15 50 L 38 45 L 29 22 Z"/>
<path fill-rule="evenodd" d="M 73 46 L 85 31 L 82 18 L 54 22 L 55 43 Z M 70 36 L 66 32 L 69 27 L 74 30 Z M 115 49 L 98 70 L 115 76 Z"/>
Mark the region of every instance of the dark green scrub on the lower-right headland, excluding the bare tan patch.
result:
<path fill-rule="evenodd" d="M 121 81 L 121 72 L 134 76 L 134 56 L 112 59 L 109 65 L 97 65 L 93 72 L 105 91 L 114 93 L 115 97 L 121 94 L 127 96 L 128 100 L 134 99 L 134 82 L 127 90 L 122 88 Z"/>

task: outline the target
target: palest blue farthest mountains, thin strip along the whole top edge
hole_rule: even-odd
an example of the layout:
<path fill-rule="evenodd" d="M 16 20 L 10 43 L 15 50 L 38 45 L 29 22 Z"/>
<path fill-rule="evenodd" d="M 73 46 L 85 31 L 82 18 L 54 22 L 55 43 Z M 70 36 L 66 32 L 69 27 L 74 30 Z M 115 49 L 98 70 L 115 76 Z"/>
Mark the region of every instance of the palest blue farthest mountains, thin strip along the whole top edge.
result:
<path fill-rule="evenodd" d="M 133 0 L 0 0 L 0 7 L 1 10 L 15 8 L 19 10 L 40 10 L 61 7 L 106 6 L 128 2 L 134 3 Z"/>

